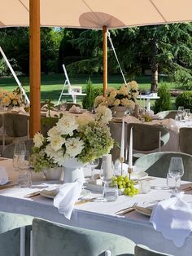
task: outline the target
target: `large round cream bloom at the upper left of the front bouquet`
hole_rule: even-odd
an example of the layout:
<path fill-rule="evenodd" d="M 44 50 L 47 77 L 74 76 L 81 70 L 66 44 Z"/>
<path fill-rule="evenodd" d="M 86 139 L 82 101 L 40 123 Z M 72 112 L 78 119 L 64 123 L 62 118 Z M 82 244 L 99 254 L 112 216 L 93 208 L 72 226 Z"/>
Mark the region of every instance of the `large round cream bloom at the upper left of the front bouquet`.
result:
<path fill-rule="evenodd" d="M 61 135 L 73 135 L 73 130 L 76 130 L 78 124 L 76 122 L 76 117 L 72 114 L 63 114 L 57 123 L 57 129 L 61 133 Z"/>

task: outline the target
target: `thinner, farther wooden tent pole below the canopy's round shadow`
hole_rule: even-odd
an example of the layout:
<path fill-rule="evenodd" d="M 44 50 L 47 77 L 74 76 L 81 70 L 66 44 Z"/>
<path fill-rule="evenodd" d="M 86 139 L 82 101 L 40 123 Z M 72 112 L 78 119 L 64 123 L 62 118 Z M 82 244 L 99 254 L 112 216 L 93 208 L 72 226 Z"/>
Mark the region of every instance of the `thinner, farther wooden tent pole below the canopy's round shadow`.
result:
<path fill-rule="evenodd" d="M 107 89 L 107 27 L 103 26 L 103 95 Z"/>

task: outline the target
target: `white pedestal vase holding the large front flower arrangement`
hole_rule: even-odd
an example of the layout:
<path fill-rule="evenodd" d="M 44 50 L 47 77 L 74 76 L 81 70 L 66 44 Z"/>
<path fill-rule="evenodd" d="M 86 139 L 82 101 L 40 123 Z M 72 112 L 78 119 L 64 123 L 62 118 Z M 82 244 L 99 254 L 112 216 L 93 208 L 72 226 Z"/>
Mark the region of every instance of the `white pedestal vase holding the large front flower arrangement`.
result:
<path fill-rule="evenodd" d="M 63 183 L 73 183 L 77 179 L 81 183 L 84 183 L 84 172 L 82 167 L 84 166 L 81 161 L 78 161 L 77 158 L 70 158 L 64 162 L 64 177 Z"/>

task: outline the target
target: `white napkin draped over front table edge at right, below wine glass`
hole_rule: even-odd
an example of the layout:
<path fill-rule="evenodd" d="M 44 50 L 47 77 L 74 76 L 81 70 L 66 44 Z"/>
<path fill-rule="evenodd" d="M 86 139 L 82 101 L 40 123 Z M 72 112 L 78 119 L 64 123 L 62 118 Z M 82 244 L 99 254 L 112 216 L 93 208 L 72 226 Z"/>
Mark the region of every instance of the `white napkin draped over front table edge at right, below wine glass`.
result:
<path fill-rule="evenodd" d="M 181 247 L 192 230 L 192 209 L 182 200 L 184 192 L 159 202 L 151 215 L 155 230 L 162 232 L 166 239 Z"/>

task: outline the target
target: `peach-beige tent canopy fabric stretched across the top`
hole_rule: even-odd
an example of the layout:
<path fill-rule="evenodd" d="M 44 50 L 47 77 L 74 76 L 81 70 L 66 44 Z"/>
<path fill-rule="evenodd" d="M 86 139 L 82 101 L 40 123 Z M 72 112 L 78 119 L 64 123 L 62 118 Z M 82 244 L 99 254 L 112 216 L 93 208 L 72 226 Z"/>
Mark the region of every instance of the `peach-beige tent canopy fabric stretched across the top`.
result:
<path fill-rule="evenodd" d="M 191 0 L 40 0 L 41 26 L 118 29 L 192 21 Z M 1 1 L 0 28 L 29 25 L 29 0 Z"/>

